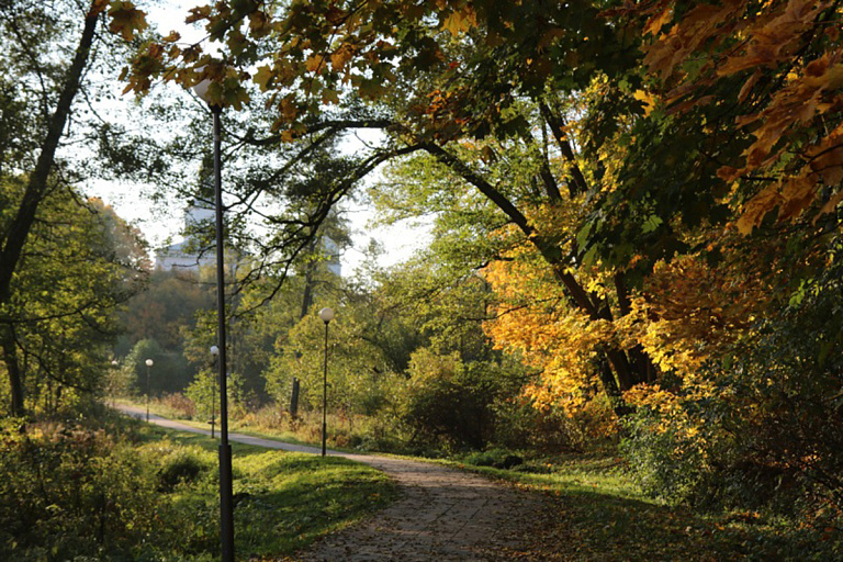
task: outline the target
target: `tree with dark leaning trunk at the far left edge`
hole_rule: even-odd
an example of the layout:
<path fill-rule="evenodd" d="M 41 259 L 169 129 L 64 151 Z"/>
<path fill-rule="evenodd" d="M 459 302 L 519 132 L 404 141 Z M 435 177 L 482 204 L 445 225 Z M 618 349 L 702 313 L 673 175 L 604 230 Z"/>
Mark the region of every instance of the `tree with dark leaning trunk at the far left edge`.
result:
<path fill-rule="evenodd" d="M 0 37 L 4 45 L 0 54 L 4 69 L 0 80 L 0 182 L 8 204 L 3 205 L 0 229 L 0 349 L 14 415 L 25 411 L 26 370 L 26 358 L 22 364 L 19 357 L 21 337 L 15 308 L 24 296 L 18 276 L 23 273 L 26 256 L 34 254 L 27 250 L 27 244 L 46 218 L 43 204 L 57 199 L 54 204 L 61 205 L 75 196 L 65 182 L 66 176 L 58 173 L 57 162 L 74 102 L 92 68 L 92 54 L 110 37 L 97 33 L 106 10 L 112 18 L 111 31 L 122 33 L 125 40 L 133 37 L 135 29 L 145 26 L 143 13 L 131 2 L 112 5 L 102 1 L 21 0 L 0 5 Z M 70 311 L 63 314 L 67 313 Z M 42 351 L 40 355 L 44 357 Z"/>

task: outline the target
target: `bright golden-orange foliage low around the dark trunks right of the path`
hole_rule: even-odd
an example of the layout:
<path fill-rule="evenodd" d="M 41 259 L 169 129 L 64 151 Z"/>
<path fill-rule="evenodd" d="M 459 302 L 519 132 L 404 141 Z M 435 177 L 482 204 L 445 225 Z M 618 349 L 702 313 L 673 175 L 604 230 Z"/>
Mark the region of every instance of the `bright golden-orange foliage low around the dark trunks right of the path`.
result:
<path fill-rule="evenodd" d="M 498 300 L 494 319 L 484 328 L 498 349 L 540 370 L 538 382 L 526 389 L 537 407 L 562 407 L 570 415 L 583 412 L 602 393 L 596 359 L 607 346 L 640 346 L 661 373 L 679 378 L 684 393 L 709 392 L 700 367 L 730 350 L 773 294 L 766 256 L 733 248 L 718 266 L 695 255 L 659 262 L 642 289 L 630 295 L 628 314 L 595 321 L 570 304 L 550 268 L 532 259 L 530 247 L 509 257 L 483 271 Z M 596 274 L 582 274 L 580 281 L 607 286 Z M 642 393 L 655 392 L 637 389 L 627 400 L 639 403 Z"/>

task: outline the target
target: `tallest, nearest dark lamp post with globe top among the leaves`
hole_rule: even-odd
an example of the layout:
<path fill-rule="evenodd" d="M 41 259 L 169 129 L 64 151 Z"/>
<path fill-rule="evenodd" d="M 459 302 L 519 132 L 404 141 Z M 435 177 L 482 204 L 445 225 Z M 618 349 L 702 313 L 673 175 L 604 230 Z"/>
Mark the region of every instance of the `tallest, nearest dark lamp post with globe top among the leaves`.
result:
<path fill-rule="evenodd" d="M 232 446 L 228 443 L 228 397 L 225 361 L 225 255 L 223 250 L 223 187 L 220 116 L 223 106 L 209 98 L 211 80 L 193 91 L 211 108 L 214 122 L 214 206 L 216 225 L 216 317 L 220 350 L 220 536 L 223 562 L 234 562 L 234 502 L 232 493 Z"/>

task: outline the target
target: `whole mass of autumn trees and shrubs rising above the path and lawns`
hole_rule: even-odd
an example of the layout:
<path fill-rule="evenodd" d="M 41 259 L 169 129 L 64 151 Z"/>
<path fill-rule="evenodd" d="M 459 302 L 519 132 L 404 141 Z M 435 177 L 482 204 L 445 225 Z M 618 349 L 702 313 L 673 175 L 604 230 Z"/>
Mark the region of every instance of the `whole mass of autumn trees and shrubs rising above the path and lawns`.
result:
<path fill-rule="evenodd" d="M 127 1 L 0 8 L 9 424 L 106 393 L 211 415 L 210 276 L 154 271 L 82 195 L 210 202 L 207 108 L 167 91 L 209 79 L 236 417 L 318 409 L 331 306 L 336 446 L 608 450 L 663 501 L 839 530 L 839 2 L 240 0 L 190 10 L 199 43 Z M 431 244 L 337 278 L 349 198 Z"/>

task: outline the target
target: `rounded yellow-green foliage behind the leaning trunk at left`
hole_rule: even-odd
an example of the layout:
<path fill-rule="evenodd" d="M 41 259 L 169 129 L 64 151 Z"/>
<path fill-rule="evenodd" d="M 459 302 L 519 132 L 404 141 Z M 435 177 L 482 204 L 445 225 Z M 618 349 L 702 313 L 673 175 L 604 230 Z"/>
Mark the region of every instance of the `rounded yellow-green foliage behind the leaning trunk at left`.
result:
<path fill-rule="evenodd" d="M 22 189 L 0 177 L 9 209 L 21 204 Z M 15 381 L 10 390 L 21 389 L 27 409 L 53 414 L 101 393 L 116 313 L 144 283 L 145 254 L 137 233 L 111 209 L 81 202 L 70 188 L 45 198 L 36 218 L 13 296 L 0 303 L 0 331 L 5 372 Z M 3 213 L 0 231 L 11 221 Z"/>

